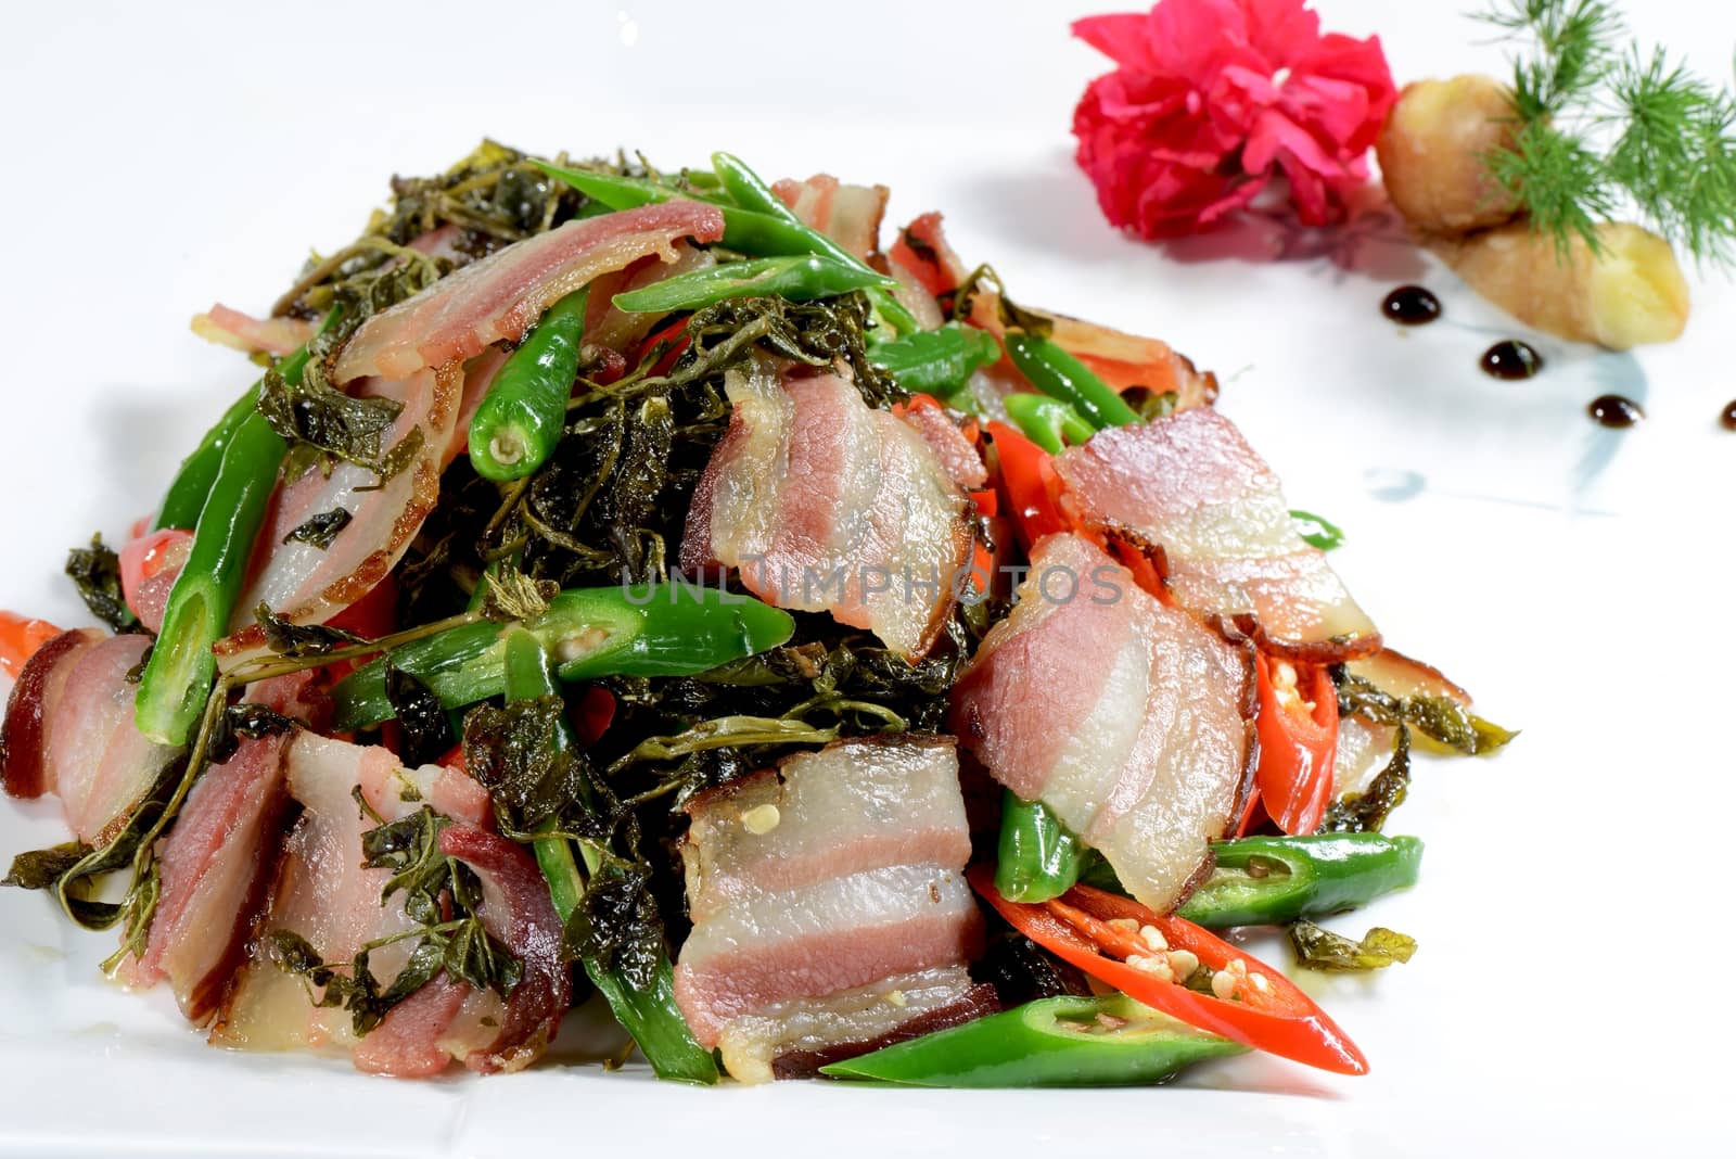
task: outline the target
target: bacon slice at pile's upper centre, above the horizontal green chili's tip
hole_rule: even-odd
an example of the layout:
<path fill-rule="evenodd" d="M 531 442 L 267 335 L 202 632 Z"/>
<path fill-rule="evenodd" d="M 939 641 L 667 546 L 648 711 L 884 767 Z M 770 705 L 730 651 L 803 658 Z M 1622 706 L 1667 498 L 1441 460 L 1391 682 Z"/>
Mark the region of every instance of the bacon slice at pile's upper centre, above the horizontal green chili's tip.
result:
<path fill-rule="evenodd" d="M 682 567 L 738 567 L 767 602 L 927 652 L 970 557 L 965 494 L 934 451 L 840 373 L 760 361 L 726 390 L 729 430 L 694 493 Z"/>

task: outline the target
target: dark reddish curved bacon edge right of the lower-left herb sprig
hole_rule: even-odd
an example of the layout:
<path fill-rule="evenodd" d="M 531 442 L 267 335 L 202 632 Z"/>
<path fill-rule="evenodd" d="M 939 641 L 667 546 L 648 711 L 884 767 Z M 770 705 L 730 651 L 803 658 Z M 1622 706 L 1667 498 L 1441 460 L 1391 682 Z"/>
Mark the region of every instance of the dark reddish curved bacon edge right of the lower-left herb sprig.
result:
<path fill-rule="evenodd" d="M 474 826 L 441 829 L 439 848 L 476 871 L 483 885 L 477 916 L 524 966 L 505 1012 L 495 1018 L 493 1041 L 464 1065 L 483 1074 L 521 1071 L 554 1039 L 573 992 L 549 881 L 523 845 Z"/>

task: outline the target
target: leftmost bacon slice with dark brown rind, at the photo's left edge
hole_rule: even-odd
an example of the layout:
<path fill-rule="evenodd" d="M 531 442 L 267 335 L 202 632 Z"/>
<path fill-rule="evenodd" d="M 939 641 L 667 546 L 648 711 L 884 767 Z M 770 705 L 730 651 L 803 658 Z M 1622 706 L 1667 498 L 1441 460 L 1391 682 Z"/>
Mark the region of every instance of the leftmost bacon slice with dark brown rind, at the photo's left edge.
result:
<path fill-rule="evenodd" d="M 182 753 L 134 724 L 139 685 L 127 673 L 149 644 L 146 635 L 62 632 L 30 658 L 7 701 L 5 791 L 57 795 L 87 845 L 113 840 Z"/>

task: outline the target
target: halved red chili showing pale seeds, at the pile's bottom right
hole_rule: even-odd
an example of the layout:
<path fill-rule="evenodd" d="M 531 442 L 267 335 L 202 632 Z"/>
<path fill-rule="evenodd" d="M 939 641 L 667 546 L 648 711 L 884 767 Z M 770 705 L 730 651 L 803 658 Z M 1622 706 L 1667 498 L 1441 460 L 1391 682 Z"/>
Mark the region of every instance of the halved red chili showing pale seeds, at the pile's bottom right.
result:
<path fill-rule="evenodd" d="M 1075 885 L 1042 906 L 1024 906 L 1000 895 L 991 866 L 972 866 L 969 878 L 1019 933 L 1153 1010 L 1311 1067 L 1338 1074 L 1368 1072 L 1363 1051 L 1312 998 L 1260 959 L 1186 918 L 1165 918 L 1128 897 L 1088 885 Z M 1191 953 L 1213 973 L 1229 970 L 1236 980 L 1231 998 L 1203 994 L 1127 965 L 1128 958 L 1151 958 L 1163 951 L 1153 951 L 1137 933 L 1109 925 L 1118 918 L 1156 928 L 1172 951 Z"/>

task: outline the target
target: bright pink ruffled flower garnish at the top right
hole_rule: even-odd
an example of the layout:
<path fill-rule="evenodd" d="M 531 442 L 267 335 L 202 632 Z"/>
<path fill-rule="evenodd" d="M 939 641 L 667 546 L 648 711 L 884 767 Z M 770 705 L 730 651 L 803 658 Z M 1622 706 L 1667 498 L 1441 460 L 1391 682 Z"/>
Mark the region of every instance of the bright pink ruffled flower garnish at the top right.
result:
<path fill-rule="evenodd" d="M 1304 224 L 1337 220 L 1397 99 L 1380 38 L 1323 36 L 1307 0 L 1160 0 L 1073 35 L 1118 64 L 1073 111 L 1080 168 L 1144 238 L 1210 226 L 1274 170 Z"/>

